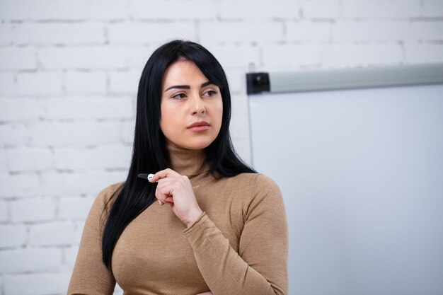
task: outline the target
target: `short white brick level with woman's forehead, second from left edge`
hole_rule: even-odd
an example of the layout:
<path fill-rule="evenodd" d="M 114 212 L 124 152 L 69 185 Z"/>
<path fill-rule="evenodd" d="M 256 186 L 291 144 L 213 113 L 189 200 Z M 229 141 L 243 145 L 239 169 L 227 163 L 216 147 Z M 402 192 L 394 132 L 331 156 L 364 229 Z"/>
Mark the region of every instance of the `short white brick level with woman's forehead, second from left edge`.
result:
<path fill-rule="evenodd" d="M 62 74 L 59 72 L 33 72 L 17 74 L 17 83 L 11 94 L 41 96 L 62 92 Z"/>

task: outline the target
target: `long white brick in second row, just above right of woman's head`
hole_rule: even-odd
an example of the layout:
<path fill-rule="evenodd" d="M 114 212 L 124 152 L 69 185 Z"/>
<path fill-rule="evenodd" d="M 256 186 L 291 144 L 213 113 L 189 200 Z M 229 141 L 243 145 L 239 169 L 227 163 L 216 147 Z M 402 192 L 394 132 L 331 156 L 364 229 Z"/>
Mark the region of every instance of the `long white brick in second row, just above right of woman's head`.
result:
<path fill-rule="evenodd" d="M 284 39 L 283 25 L 277 22 L 201 22 L 198 31 L 202 43 L 279 42 Z"/>

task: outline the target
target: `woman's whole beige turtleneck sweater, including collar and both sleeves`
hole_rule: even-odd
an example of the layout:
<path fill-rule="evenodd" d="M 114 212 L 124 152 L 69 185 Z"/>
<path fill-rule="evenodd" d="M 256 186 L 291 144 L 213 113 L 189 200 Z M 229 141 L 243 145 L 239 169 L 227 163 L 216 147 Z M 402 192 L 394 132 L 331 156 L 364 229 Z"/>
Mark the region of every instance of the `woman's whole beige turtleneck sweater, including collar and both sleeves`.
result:
<path fill-rule="evenodd" d="M 68 294 L 113 294 L 115 282 L 127 295 L 287 294 L 287 220 L 277 185 L 255 173 L 216 180 L 198 151 L 170 153 L 171 168 L 190 178 L 200 219 L 187 229 L 154 202 L 123 231 L 108 270 L 100 216 L 121 184 L 110 185 L 88 214 Z"/>

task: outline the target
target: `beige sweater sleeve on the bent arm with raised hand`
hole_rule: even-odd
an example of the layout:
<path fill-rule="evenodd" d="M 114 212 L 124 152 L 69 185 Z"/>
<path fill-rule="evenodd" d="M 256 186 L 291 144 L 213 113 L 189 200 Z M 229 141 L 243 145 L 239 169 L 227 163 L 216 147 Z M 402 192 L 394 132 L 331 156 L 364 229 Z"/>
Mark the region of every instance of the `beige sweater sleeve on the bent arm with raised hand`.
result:
<path fill-rule="evenodd" d="M 258 175 L 243 214 L 238 253 L 202 214 L 184 233 L 209 289 L 222 294 L 287 294 L 287 219 L 278 186 Z"/>

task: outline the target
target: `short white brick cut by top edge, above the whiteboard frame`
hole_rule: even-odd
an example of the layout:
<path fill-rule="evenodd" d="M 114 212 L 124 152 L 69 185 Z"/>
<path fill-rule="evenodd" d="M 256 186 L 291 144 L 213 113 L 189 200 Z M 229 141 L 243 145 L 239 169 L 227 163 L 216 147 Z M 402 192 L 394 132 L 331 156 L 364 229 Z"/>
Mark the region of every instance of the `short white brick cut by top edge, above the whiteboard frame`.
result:
<path fill-rule="evenodd" d="M 341 13 L 340 1 L 302 1 L 300 6 L 304 18 L 338 18 Z"/>

